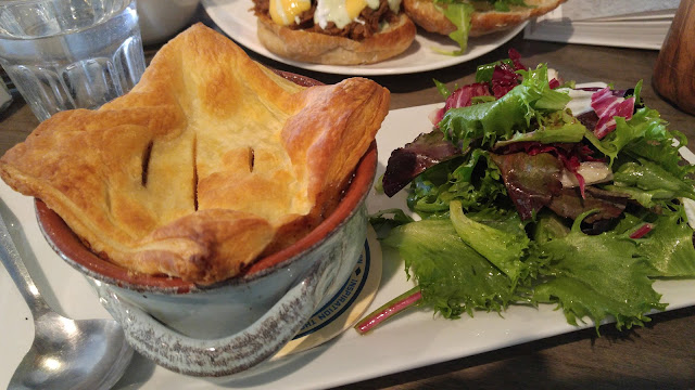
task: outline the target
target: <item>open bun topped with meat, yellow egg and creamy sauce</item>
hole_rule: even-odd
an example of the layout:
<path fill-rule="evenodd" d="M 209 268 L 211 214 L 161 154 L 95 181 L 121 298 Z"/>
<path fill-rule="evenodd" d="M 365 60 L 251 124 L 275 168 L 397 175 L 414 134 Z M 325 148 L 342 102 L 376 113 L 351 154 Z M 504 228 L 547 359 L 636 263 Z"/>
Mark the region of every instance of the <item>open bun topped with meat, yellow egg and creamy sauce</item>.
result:
<path fill-rule="evenodd" d="M 416 27 L 401 0 L 253 0 L 258 40 L 294 61 L 357 65 L 404 52 Z"/>

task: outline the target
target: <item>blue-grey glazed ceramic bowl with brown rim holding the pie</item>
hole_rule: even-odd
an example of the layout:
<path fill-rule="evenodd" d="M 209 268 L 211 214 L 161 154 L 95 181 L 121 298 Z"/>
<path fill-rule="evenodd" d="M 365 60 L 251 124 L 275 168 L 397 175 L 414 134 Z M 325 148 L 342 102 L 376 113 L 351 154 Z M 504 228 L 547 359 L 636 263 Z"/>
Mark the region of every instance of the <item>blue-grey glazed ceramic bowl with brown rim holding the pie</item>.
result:
<path fill-rule="evenodd" d="M 317 83 L 279 74 L 300 84 Z M 132 274 L 105 261 L 41 200 L 35 205 L 49 244 L 92 281 L 139 353 L 177 373 L 228 376 L 273 356 L 348 280 L 366 238 L 365 199 L 376 165 L 372 143 L 340 204 L 315 230 L 257 260 L 243 275 L 205 287 Z"/>

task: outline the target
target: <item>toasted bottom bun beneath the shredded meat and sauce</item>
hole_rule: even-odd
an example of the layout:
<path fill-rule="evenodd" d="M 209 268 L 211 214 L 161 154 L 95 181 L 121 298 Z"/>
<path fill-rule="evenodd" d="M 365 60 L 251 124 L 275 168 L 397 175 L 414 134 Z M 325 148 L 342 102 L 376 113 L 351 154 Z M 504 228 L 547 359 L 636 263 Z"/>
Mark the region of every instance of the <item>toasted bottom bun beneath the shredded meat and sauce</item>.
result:
<path fill-rule="evenodd" d="M 364 40 L 293 30 L 273 22 L 267 15 L 258 17 L 258 40 L 270 52 L 286 58 L 326 64 L 374 64 L 403 53 L 415 39 L 417 28 L 405 14 L 397 23 Z"/>

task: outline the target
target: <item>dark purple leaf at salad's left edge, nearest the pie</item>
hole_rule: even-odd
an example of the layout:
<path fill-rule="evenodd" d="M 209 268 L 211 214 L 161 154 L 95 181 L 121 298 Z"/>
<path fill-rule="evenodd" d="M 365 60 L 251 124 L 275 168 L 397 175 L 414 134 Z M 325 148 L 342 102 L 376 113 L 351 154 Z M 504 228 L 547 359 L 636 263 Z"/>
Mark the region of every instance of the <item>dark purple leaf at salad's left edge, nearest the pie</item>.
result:
<path fill-rule="evenodd" d="M 391 152 L 382 179 L 383 193 L 389 197 L 395 195 L 427 168 L 460 153 L 460 148 L 445 141 L 439 130 L 418 135 L 415 141 Z"/>

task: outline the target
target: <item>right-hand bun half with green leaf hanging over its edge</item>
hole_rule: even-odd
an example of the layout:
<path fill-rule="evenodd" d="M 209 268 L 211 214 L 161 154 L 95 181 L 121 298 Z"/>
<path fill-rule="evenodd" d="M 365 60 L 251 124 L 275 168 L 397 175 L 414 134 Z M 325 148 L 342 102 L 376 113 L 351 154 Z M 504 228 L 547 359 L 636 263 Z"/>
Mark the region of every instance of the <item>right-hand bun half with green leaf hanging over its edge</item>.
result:
<path fill-rule="evenodd" d="M 425 30 L 448 36 L 463 54 L 468 37 L 513 28 L 566 0 L 403 0 L 405 13 Z"/>

